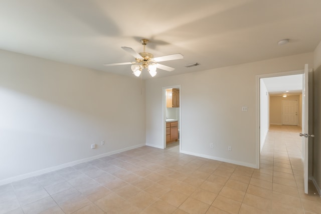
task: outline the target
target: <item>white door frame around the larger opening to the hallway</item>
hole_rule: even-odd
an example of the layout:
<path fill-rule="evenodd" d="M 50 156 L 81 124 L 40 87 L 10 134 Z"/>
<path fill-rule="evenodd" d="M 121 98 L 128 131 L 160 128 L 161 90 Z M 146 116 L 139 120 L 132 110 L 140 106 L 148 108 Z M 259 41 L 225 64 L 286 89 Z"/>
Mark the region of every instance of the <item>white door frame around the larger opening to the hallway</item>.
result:
<path fill-rule="evenodd" d="M 256 81 L 255 81 L 255 88 L 256 88 L 256 106 L 255 106 L 255 113 L 256 113 L 256 122 L 255 122 L 255 138 L 256 138 L 256 162 L 257 162 L 257 168 L 260 168 L 260 157 L 261 157 L 261 151 L 260 146 L 261 139 L 260 139 L 260 92 L 261 92 L 261 84 L 260 80 L 264 78 L 270 78 L 270 77 L 281 77 L 281 76 L 290 76 L 290 75 L 296 75 L 296 74 L 304 74 L 304 69 L 300 70 L 293 70 L 293 71 L 285 71 L 285 72 L 278 72 L 278 73 L 270 73 L 270 74 L 261 74 L 256 75 Z"/>

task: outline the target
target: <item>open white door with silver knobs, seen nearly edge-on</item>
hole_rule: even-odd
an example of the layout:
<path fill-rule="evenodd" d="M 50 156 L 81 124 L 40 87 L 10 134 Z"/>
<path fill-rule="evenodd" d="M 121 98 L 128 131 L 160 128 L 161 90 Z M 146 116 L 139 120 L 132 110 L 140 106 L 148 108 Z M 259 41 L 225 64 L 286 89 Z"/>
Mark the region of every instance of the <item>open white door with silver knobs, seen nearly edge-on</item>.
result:
<path fill-rule="evenodd" d="M 308 191 L 308 65 L 304 65 L 304 74 L 302 81 L 302 160 L 304 170 L 304 192 Z"/>

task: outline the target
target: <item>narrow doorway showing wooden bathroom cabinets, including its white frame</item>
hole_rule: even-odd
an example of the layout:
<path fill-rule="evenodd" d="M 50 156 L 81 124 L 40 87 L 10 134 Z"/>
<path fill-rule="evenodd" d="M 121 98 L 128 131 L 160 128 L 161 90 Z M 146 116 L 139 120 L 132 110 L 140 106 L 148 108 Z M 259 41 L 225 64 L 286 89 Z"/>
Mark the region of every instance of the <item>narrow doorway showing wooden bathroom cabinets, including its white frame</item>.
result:
<path fill-rule="evenodd" d="M 163 87 L 164 148 L 179 144 L 182 150 L 182 89 L 180 85 Z"/>

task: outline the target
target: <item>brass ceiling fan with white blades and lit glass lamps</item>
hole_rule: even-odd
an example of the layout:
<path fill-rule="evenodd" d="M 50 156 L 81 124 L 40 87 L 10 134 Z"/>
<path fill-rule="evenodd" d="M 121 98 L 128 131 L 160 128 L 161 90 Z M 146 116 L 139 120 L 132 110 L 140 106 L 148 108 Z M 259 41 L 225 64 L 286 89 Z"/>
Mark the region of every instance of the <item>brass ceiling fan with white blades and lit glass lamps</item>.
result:
<path fill-rule="evenodd" d="M 104 66 L 115 66 L 115 65 L 130 65 L 131 64 L 131 70 L 133 74 L 136 77 L 139 77 L 141 71 L 143 69 L 147 69 L 150 76 L 154 77 L 156 75 L 156 69 L 162 69 L 165 71 L 174 71 L 175 68 L 158 64 L 158 62 L 164 62 L 164 61 L 170 61 L 170 60 L 179 60 L 183 59 L 184 56 L 182 54 L 171 54 L 171 55 L 166 55 L 163 57 L 155 57 L 150 54 L 145 52 L 145 46 L 148 43 L 147 39 L 141 39 L 140 40 L 141 44 L 143 45 L 143 52 L 142 53 L 137 53 L 135 52 L 132 48 L 128 47 L 121 47 L 124 51 L 129 53 L 131 56 L 135 57 L 135 62 L 125 62 L 125 63 L 108 63 L 104 64 Z"/>

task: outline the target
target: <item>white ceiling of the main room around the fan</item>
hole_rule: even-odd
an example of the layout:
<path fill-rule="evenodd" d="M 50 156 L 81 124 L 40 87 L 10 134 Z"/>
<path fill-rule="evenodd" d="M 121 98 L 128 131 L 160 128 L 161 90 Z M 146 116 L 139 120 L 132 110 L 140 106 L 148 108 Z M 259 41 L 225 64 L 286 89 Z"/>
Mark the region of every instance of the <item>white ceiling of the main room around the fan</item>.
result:
<path fill-rule="evenodd" d="M 103 64 L 133 61 L 120 47 L 142 52 L 146 38 L 154 57 L 184 55 L 163 63 L 176 68 L 157 70 L 164 77 L 313 52 L 320 8 L 320 0 L 0 0 L 0 49 L 136 78 L 129 65 Z"/>

